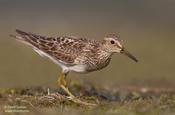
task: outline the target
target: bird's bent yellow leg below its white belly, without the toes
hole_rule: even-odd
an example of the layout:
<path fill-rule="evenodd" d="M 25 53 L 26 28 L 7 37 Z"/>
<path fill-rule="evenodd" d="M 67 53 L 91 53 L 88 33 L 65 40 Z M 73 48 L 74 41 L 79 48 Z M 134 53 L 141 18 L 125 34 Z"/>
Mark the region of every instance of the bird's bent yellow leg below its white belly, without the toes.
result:
<path fill-rule="evenodd" d="M 62 73 L 61 76 L 58 78 L 58 85 L 71 97 L 74 98 L 75 96 L 69 91 L 67 87 L 67 83 L 65 80 L 65 74 Z"/>

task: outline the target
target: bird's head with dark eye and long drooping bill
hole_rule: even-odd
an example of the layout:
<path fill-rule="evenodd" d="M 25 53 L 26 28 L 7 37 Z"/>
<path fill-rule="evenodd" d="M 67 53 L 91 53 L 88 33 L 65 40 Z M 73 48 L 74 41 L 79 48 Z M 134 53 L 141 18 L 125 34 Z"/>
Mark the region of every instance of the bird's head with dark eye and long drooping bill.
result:
<path fill-rule="evenodd" d="M 138 60 L 123 47 L 119 37 L 117 37 L 114 34 L 110 34 L 104 38 L 103 47 L 104 47 L 104 50 L 109 53 L 121 53 L 128 56 L 135 62 L 138 62 Z"/>

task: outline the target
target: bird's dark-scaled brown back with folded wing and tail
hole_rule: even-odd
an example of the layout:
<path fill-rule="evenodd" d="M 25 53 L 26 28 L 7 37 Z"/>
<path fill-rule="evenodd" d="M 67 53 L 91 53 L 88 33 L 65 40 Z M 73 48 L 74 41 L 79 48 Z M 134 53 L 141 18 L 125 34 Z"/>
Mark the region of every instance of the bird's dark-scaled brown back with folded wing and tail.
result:
<path fill-rule="evenodd" d="M 33 47 L 40 54 L 48 55 L 53 61 L 60 61 L 65 65 L 82 64 L 81 57 L 88 51 L 89 56 L 94 55 L 98 42 L 85 38 L 77 37 L 45 37 L 33 33 L 27 33 L 16 30 L 19 36 L 15 36 L 17 40 L 22 41 Z M 85 60 L 84 60 L 85 61 Z"/>

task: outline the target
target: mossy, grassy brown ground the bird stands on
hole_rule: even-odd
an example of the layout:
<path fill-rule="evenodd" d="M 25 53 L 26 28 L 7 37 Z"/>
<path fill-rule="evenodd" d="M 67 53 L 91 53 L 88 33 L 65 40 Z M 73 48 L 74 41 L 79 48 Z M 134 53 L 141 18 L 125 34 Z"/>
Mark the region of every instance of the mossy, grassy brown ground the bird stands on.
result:
<path fill-rule="evenodd" d="M 49 89 L 49 91 L 48 91 Z M 96 103 L 85 106 L 69 100 L 58 88 L 32 87 L 1 89 L 1 113 L 8 110 L 27 110 L 28 114 L 174 114 L 173 89 L 119 87 L 116 90 L 92 85 L 73 84 L 71 91 L 83 101 Z M 23 108 L 20 108 L 23 107 Z M 23 111 L 26 112 L 26 111 Z M 16 114 L 17 112 L 12 112 Z M 22 112 L 21 112 L 22 113 Z"/>

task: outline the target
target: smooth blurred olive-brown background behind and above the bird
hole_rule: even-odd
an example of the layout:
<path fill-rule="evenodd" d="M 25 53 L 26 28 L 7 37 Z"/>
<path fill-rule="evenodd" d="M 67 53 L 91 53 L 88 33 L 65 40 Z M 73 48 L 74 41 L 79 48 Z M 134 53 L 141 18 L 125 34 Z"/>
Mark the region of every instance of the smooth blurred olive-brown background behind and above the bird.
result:
<path fill-rule="evenodd" d="M 61 69 L 9 37 L 15 29 L 45 36 L 103 39 L 116 33 L 139 63 L 116 54 L 110 65 L 68 80 L 114 86 L 175 86 L 174 0 L 0 0 L 0 87 L 56 87 Z"/>

